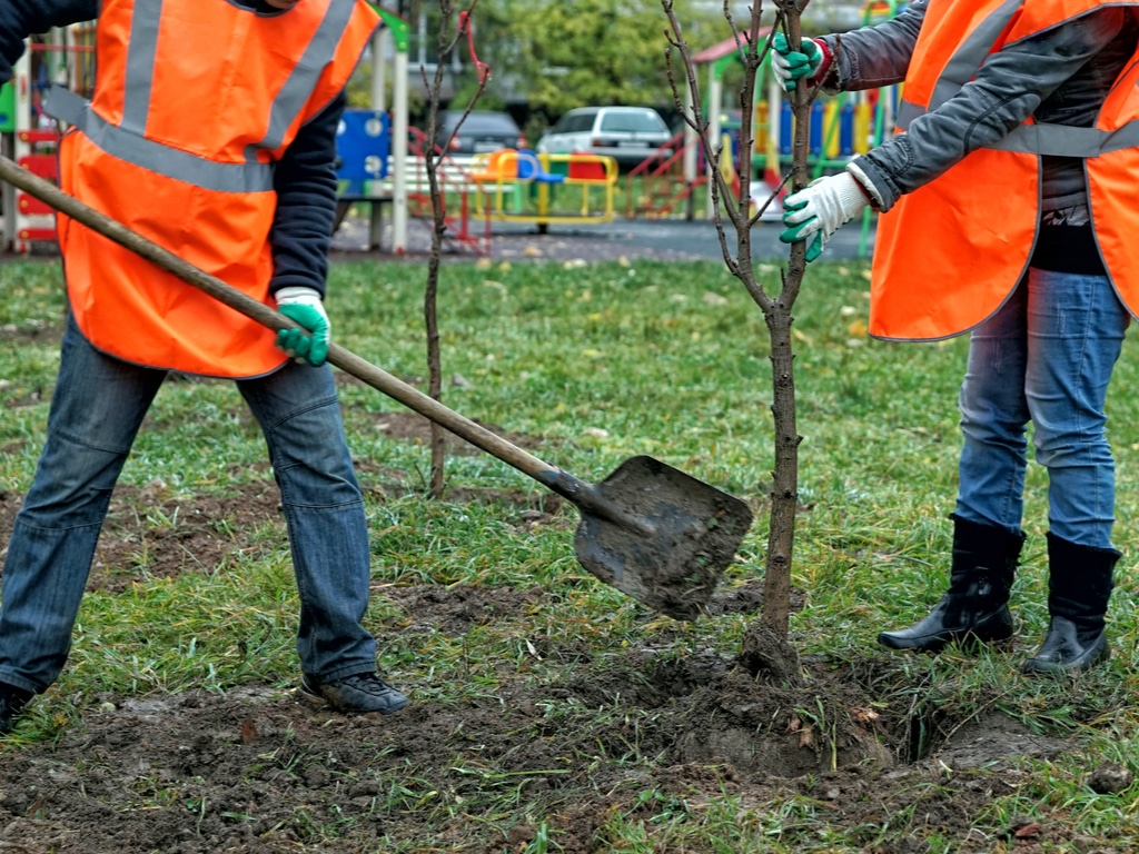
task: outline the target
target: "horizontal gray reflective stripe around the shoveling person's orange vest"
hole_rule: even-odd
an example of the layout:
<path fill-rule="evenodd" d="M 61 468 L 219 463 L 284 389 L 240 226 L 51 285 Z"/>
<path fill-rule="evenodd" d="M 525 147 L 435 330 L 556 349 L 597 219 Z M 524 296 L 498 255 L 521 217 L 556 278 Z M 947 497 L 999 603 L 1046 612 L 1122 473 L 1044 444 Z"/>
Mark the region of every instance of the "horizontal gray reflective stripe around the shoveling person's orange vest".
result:
<path fill-rule="evenodd" d="M 63 87 L 49 90 L 43 112 L 75 125 L 107 154 L 177 181 L 218 192 L 267 192 L 273 188 L 271 163 L 218 163 L 164 146 L 103 120 L 89 100 Z"/>

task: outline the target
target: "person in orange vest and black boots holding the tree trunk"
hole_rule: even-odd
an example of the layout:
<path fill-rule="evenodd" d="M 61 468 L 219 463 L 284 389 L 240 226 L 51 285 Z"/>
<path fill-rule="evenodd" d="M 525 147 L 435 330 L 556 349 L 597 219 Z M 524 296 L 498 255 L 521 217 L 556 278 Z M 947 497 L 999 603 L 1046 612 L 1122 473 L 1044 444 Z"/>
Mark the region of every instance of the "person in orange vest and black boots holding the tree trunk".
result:
<path fill-rule="evenodd" d="M 1109 648 L 1120 552 L 1104 414 L 1139 310 L 1136 3 L 917 0 L 876 26 L 776 36 L 785 88 L 904 82 L 899 132 L 784 203 L 808 260 L 867 206 L 883 212 L 871 335 L 970 332 L 949 589 L 894 649 L 1007 641 L 1024 532 L 1026 428 L 1048 470 L 1050 622 L 1024 672 L 1085 670 Z"/>

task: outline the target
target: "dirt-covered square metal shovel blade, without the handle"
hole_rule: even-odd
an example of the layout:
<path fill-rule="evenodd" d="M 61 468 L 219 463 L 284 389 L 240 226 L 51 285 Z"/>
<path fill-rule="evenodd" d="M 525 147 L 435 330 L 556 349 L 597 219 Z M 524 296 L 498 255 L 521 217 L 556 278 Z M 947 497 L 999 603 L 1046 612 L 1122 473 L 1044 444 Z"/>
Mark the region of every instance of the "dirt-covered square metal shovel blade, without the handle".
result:
<path fill-rule="evenodd" d="M 734 495 L 652 457 L 632 457 L 597 485 L 638 519 L 629 525 L 582 510 L 574 549 L 585 569 L 675 619 L 705 611 L 752 525 Z"/>

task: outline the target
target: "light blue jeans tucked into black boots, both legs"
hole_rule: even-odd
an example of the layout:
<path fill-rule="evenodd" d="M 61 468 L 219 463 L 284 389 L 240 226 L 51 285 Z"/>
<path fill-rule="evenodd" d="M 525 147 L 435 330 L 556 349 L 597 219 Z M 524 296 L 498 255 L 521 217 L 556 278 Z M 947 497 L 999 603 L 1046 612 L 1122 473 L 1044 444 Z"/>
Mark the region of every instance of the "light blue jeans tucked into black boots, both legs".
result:
<path fill-rule="evenodd" d="M 1130 318 L 1103 276 L 1030 269 L 969 343 L 957 515 L 1021 532 L 1025 427 L 1048 469 L 1051 533 L 1112 548 L 1115 463 L 1104 402 Z"/>

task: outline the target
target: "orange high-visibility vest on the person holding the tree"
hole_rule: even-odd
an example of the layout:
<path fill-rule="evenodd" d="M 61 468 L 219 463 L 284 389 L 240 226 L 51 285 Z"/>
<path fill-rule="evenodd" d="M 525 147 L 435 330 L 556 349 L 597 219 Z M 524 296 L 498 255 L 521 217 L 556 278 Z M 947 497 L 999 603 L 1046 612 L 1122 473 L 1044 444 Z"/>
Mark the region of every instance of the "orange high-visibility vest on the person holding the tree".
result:
<path fill-rule="evenodd" d="M 985 57 L 1106 3 L 1103 0 L 931 0 L 899 110 L 899 132 L 976 74 Z M 1134 6 L 1136 3 L 1118 3 Z M 1139 57 L 1139 51 L 1137 51 Z M 879 217 L 870 334 L 948 338 L 1000 309 L 1029 265 L 1040 220 L 1040 156 L 1083 157 L 1096 238 L 1112 282 L 1139 309 L 1139 68 L 1132 57 L 1095 128 L 1025 122 L 977 149 Z"/>

